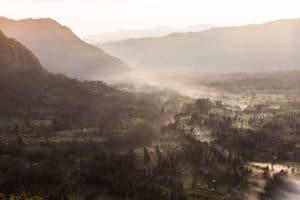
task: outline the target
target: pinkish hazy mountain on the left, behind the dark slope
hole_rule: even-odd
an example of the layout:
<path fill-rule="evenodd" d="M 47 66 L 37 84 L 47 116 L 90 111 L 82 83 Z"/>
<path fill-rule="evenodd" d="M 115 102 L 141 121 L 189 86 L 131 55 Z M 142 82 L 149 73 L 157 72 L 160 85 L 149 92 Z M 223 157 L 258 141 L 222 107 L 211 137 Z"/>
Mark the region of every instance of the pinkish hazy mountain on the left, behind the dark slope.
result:
<path fill-rule="evenodd" d="M 0 18 L 0 29 L 28 47 L 49 71 L 80 79 L 99 79 L 128 69 L 120 59 L 85 43 L 52 19 Z"/>

